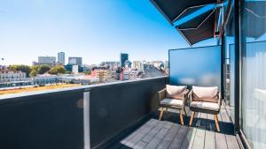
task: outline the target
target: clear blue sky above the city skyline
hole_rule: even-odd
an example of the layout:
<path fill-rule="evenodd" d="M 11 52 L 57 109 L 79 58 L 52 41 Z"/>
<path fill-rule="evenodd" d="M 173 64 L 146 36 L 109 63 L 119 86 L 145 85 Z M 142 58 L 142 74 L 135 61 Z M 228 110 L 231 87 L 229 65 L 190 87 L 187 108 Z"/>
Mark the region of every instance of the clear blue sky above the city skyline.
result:
<path fill-rule="evenodd" d="M 203 41 L 195 46 L 215 44 Z M 168 60 L 189 45 L 149 0 L 1 0 L 0 64 L 37 56 L 82 56 L 83 63 Z"/>

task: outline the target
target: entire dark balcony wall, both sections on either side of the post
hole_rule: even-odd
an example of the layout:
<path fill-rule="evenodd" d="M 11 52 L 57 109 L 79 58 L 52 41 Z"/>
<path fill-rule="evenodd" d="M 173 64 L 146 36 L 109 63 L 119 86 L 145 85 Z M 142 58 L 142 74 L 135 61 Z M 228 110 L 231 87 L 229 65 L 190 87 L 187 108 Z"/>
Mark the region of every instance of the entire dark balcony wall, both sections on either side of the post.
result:
<path fill-rule="evenodd" d="M 156 109 L 168 78 L 0 96 L 0 148 L 83 149 L 83 93 L 90 92 L 90 147 L 103 146 Z"/>

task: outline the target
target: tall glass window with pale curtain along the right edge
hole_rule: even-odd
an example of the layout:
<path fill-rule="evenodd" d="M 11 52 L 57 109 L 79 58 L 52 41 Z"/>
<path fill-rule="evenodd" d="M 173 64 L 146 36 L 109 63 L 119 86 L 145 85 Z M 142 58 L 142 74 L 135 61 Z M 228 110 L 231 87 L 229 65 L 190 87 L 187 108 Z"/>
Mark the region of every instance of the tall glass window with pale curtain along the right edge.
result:
<path fill-rule="evenodd" d="M 241 127 L 254 149 L 266 148 L 266 1 L 245 1 Z"/>

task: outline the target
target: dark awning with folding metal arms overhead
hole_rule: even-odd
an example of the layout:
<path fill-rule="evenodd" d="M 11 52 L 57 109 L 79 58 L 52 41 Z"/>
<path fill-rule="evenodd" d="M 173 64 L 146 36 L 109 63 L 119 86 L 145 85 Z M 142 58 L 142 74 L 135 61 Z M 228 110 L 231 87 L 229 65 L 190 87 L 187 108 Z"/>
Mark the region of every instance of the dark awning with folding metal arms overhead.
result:
<path fill-rule="evenodd" d="M 207 4 L 216 4 L 220 0 L 151 0 L 151 2 L 174 26 L 176 20 L 184 19 L 193 12 L 198 13 L 197 11 Z M 184 39 L 192 45 L 214 37 L 216 20 L 219 17 L 217 14 L 219 11 L 209 10 L 175 27 Z"/>

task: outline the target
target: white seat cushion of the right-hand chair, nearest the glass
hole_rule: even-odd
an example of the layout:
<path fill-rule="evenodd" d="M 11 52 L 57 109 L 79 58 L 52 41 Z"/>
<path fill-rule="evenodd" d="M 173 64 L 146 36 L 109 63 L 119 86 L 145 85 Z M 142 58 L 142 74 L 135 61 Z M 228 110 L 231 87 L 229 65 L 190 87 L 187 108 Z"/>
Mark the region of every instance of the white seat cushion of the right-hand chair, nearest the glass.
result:
<path fill-rule="evenodd" d="M 219 111 L 219 104 L 215 102 L 192 101 L 191 107 L 207 109 L 207 110 L 212 110 L 212 111 Z"/>

